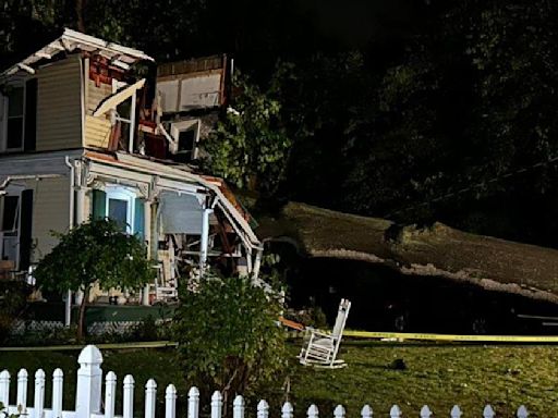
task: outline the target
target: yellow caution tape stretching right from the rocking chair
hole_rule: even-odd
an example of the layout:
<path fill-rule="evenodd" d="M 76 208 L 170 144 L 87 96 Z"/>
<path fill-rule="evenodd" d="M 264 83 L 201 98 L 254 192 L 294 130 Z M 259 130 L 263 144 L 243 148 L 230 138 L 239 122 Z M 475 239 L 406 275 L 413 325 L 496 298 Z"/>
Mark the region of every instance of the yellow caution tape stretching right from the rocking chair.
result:
<path fill-rule="evenodd" d="M 343 336 L 357 339 L 426 340 L 478 343 L 558 343 L 556 335 L 453 335 L 407 332 L 344 331 Z"/>

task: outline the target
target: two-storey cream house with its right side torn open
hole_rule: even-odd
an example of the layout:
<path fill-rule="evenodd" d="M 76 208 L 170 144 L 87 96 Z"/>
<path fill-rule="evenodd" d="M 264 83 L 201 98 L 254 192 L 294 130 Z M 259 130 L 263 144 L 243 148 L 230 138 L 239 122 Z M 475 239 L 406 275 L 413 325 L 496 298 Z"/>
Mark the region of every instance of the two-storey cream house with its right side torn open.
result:
<path fill-rule="evenodd" d="M 0 74 L 0 274 L 28 274 L 56 245 L 50 231 L 108 217 L 158 262 L 141 295 L 119 294 L 129 302 L 175 297 L 179 278 L 207 265 L 257 278 L 250 214 L 189 164 L 225 104 L 226 59 L 163 66 L 160 93 L 135 76 L 153 61 L 65 29 Z"/>

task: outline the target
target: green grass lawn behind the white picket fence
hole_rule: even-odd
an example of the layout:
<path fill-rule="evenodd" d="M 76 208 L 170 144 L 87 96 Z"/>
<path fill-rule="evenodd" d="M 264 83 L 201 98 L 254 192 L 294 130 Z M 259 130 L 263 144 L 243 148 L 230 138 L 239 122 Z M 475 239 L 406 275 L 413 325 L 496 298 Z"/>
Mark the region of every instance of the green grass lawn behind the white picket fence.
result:
<path fill-rule="evenodd" d="M 293 345 L 293 355 L 296 349 Z M 0 353 L 0 369 L 7 368 L 15 376 L 21 367 L 29 372 L 43 367 L 47 373 L 56 367 L 62 368 L 64 385 L 70 386 L 64 391 L 64 407 L 73 408 L 76 356 L 77 353 L 68 352 Z M 119 386 L 126 373 L 134 376 L 136 388 L 155 378 L 161 407 L 163 388 L 174 383 L 179 391 L 179 416 L 185 416 L 182 405 L 187 384 L 180 376 L 172 351 L 105 351 L 104 356 L 102 368 L 118 374 Z M 375 416 L 389 416 L 389 407 L 395 403 L 405 416 L 417 416 L 426 403 L 437 416 L 449 416 L 451 406 L 459 404 L 464 417 L 480 417 L 482 407 L 490 403 L 498 417 L 512 417 L 520 404 L 527 406 L 530 417 L 558 417 L 558 346 L 347 342 L 342 344 L 341 357 L 349 367 L 340 370 L 316 370 L 292 362 L 290 401 L 298 417 L 303 416 L 311 403 L 318 405 L 322 416 L 331 416 L 338 403 L 345 406 L 349 417 L 357 417 L 365 403 L 373 407 Z M 391 367 L 397 359 L 404 361 L 404 370 Z M 283 383 L 269 388 L 271 417 L 278 416 L 278 405 L 284 398 Z M 49 393 L 47 386 L 47 399 Z M 120 404 L 121 393 L 117 396 Z M 32 388 L 29 398 L 33 398 Z M 137 408 L 143 405 L 140 390 L 136 405 Z M 143 410 L 136 410 L 137 416 L 142 414 Z"/>

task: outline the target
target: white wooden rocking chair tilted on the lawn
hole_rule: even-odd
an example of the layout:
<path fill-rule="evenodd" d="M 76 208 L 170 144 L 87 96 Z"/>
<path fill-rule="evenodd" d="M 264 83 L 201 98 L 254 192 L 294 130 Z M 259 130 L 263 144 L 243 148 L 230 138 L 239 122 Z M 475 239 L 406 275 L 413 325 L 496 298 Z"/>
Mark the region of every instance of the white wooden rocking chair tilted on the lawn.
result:
<path fill-rule="evenodd" d="M 339 310 L 337 312 L 336 324 L 331 334 L 311 328 L 307 329 L 310 332 L 310 339 L 307 340 L 307 344 L 304 343 L 301 354 L 299 355 L 299 359 L 302 365 L 330 369 L 347 366 L 343 360 L 338 360 L 336 357 L 339 352 L 339 345 L 341 344 L 341 337 L 343 336 L 344 324 L 347 322 L 350 308 L 351 302 L 348 299 L 341 299 Z"/>

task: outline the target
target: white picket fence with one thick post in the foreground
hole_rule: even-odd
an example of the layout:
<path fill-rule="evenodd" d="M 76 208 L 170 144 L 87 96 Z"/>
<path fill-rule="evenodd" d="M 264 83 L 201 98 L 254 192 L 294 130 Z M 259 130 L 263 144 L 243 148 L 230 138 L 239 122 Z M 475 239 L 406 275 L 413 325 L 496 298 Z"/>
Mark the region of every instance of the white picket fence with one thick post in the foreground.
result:
<path fill-rule="evenodd" d="M 131 374 L 123 380 L 123 405 L 122 416 L 116 416 L 116 392 L 117 376 L 109 371 L 105 377 L 105 402 L 102 399 L 102 355 L 94 345 L 85 347 L 77 359 L 80 369 L 77 370 L 77 385 L 75 394 L 74 410 L 62 409 L 62 394 L 64 374 L 62 370 L 56 369 L 52 373 L 52 402 L 51 407 L 45 407 L 45 371 L 41 369 L 35 372 L 35 398 L 33 406 L 28 405 L 27 370 L 21 369 L 17 373 L 17 390 L 15 403 L 10 403 L 10 373 L 8 370 L 0 372 L 0 402 L 8 405 L 9 414 L 20 414 L 29 418 L 134 418 L 134 385 L 135 381 Z M 144 418 L 155 418 L 156 413 L 157 383 L 149 379 L 145 385 L 145 407 L 143 410 Z M 223 409 L 222 395 L 215 392 L 211 396 L 210 418 L 221 418 Z M 269 418 L 269 404 L 260 401 L 257 404 L 257 418 Z M 450 418 L 460 418 L 462 411 L 459 406 L 453 406 L 449 411 Z M 232 404 L 232 418 L 244 418 L 250 415 L 246 411 L 244 398 L 236 396 Z M 318 407 L 311 405 L 306 414 L 307 418 L 319 418 Z M 434 413 L 425 405 L 420 411 L 421 418 L 430 418 Z M 136 415 L 137 416 L 137 415 Z M 279 414 L 272 414 L 279 416 Z M 291 403 L 286 402 L 280 411 L 281 418 L 293 418 L 294 408 Z M 364 405 L 361 410 L 362 418 L 373 418 L 374 414 L 369 405 Z M 416 416 L 411 414 L 408 416 Z M 436 414 L 437 417 L 442 415 Z M 471 415 L 468 415 L 471 417 Z M 527 418 L 529 411 L 524 406 L 520 406 L 517 410 L 518 418 Z M 376 415 L 379 417 L 379 415 Z M 401 418 L 403 413 L 398 405 L 393 405 L 389 411 L 390 418 Z M 486 405 L 483 411 L 483 418 L 497 417 L 490 405 Z M 165 391 L 165 418 L 177 418 L 177 389 L 173 384 L 169 384 Z M 187 394 L 187 418 L 199 418 L 199 391 L 192 388 Z M 345 409 L 342 405 L 338 405 L 333 409 L 333 418 L 345 418 Z"/>

